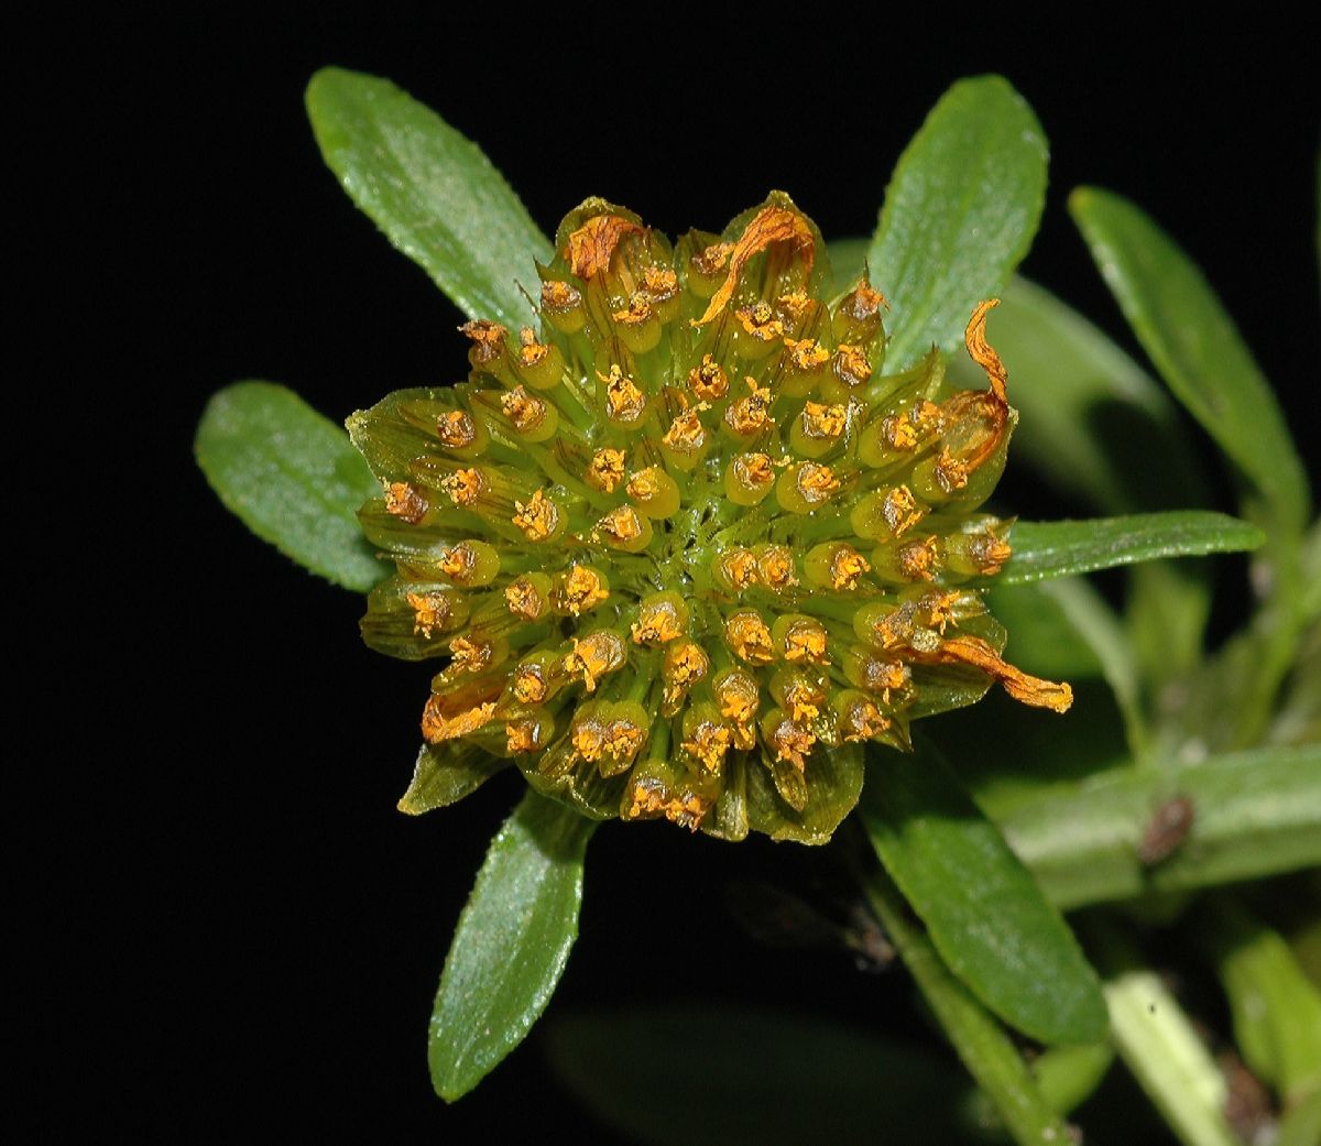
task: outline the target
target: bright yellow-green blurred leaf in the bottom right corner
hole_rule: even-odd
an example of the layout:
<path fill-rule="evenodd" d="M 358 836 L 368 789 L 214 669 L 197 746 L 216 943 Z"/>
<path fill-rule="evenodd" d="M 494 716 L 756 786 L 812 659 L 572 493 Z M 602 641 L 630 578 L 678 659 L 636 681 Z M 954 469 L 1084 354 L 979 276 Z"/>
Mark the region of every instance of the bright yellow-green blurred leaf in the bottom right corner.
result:
<path fill-rule="evenodd" d="M 1289 945 L 1223 896 L 1210 904 L 1198 935 L 1215 959 L 1248 1069 L 1285 1105 L 1321 1091 L 1321 990 Z"/>

